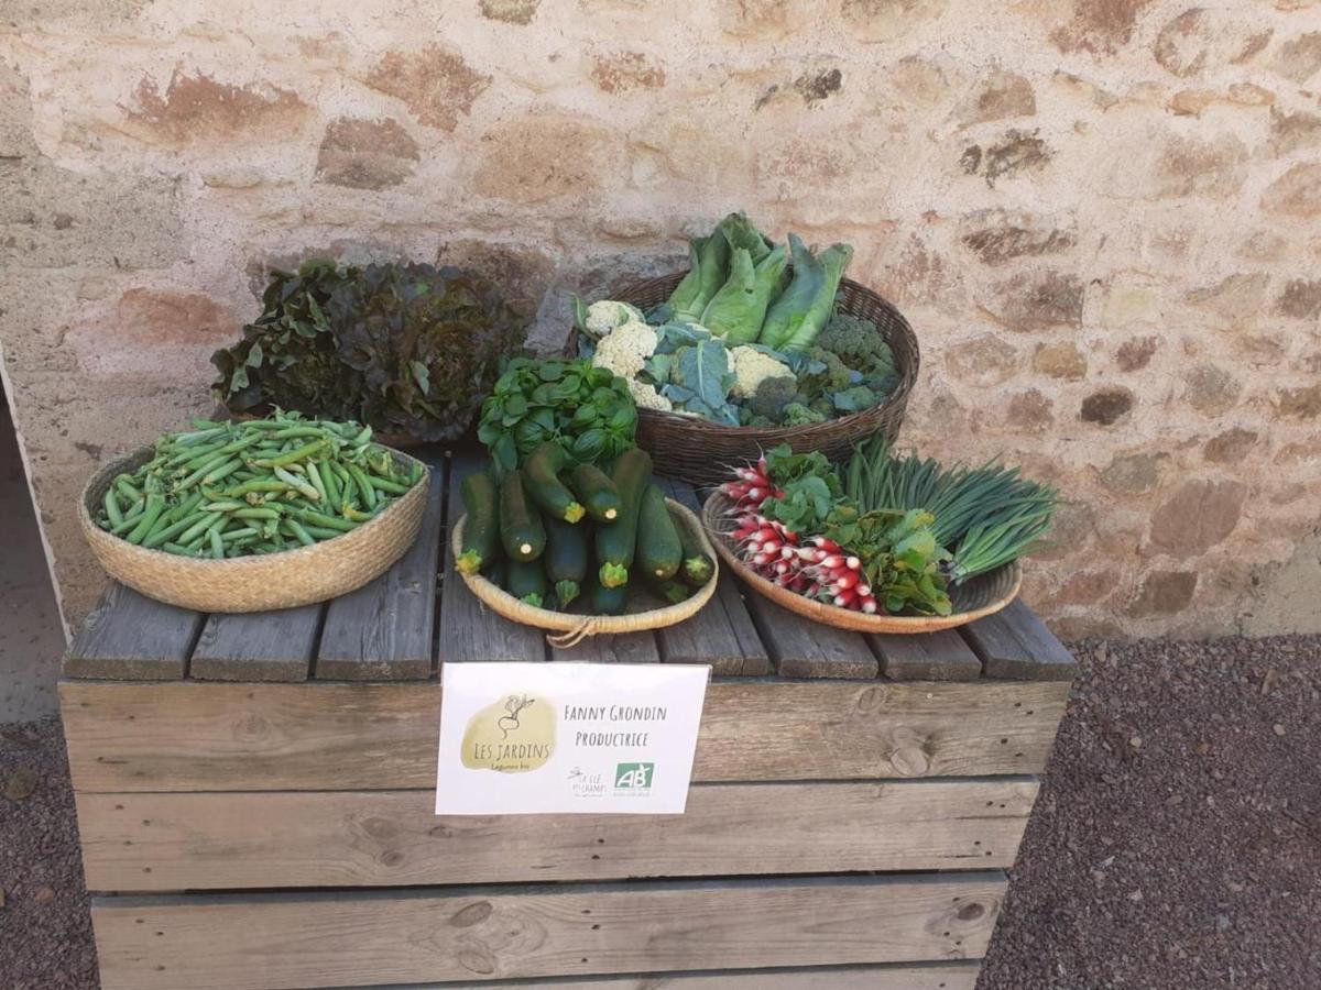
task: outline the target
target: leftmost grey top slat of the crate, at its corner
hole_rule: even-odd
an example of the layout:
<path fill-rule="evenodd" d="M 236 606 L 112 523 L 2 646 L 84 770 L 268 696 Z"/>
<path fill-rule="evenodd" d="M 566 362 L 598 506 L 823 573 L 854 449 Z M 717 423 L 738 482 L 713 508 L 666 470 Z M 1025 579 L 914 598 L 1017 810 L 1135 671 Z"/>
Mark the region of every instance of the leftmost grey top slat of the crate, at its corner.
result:
<path fill-rule="evenodd" d="M 177 680 L 188 669 L 202 618 L 112 581 L 74 636 L 65 675 Z"/>

